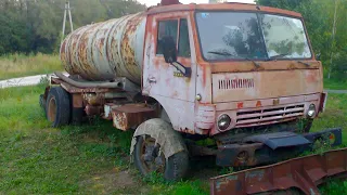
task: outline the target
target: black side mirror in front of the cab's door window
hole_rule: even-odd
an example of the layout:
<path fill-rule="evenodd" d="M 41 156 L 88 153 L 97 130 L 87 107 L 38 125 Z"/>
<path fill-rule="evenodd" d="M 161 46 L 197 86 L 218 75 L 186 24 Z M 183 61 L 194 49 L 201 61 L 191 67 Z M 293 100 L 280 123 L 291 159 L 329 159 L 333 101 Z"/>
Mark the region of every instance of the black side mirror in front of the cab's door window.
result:
<path fill-rule="evenodd" d="M 163 54 L 166 63 L 174 63 L 177 61 L 176 41 L 171 36 L 165 36 L 162 39 Z"/>

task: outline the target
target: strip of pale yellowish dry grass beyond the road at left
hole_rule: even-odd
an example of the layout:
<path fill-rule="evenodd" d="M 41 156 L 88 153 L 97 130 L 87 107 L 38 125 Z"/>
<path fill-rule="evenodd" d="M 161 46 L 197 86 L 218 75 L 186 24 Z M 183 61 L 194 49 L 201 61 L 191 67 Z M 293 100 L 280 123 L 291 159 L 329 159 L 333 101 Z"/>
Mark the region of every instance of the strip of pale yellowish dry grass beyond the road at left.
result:
<path fill-rule="evenodd" d="M 40 74 L 51 74 L 55 70 L 63 70 L 59 55 L 37 55 L 10 54 L 0 56 L 0 80 L 33 76 Z"/>

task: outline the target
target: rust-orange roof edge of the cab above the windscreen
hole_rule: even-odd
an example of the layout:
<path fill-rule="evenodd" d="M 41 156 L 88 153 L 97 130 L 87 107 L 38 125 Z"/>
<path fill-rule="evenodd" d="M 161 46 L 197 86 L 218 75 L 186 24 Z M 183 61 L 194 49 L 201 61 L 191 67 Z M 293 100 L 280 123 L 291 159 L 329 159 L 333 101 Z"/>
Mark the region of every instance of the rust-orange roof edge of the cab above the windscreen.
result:
<path fill-rule="evenodd" d="M 283 14 L 294 17 L 303 17 L 300 13 L 282 10 L 270 6 L 260 6 L 257 4 L 226 2 L 226 3 L 214 3 L 214 4 L 171 4 L 171 5 L 158 5 L 147 9 L 147 14 L 158 14 L 166 12 L 180 12 L 180 11 L 245 11 L 245 12 L 267 12 L 272 14 Z"/>

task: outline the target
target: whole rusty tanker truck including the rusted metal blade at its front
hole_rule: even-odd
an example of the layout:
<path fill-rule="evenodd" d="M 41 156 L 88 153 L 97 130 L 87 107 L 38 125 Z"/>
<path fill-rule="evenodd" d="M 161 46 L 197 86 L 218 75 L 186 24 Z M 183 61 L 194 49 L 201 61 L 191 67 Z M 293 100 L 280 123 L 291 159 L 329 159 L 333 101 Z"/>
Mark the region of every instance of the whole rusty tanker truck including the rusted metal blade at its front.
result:
<path fill-rule="evenodd" d="M 76 29 L 60 57 L 68 76 L 55 73 L 40 96 L 48 120 L 59 127 L 100 116 L 117 130 L 134 130 L 130 155 L 142 174 L 179 180 L 192 156 L 254 167 L 300 154 L 318 140 L 342 143 L 338 128 L 310 132 L 326 93 L 296 12 L 244 3 L 157 5 Z M 211 142 L 196 144 L 205 139 Z M 211 179 L 211 193 L 319 193 L 317 181 L 346 170 L 327 171 L 330 161 L 346 161 L 333 157 L 317 157 L 311 169 L 304 158 L 299 166 Z"/>

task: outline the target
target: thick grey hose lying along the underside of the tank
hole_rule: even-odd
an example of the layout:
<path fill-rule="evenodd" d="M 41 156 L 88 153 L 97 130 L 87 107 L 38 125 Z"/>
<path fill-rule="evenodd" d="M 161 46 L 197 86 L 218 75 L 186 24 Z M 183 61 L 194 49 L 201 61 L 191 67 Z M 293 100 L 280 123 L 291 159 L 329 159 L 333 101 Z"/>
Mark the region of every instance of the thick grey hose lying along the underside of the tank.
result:
<path fill-rule="evenodd" d="M 123 82 L 119 82 L 119 81 L 115 81 L 115 82 L 82 81 L 80 82 L 66 77 L 62 73 L 55 72 L 54 74 L 63 81 L 77 88 L 123 88 Z"/>

